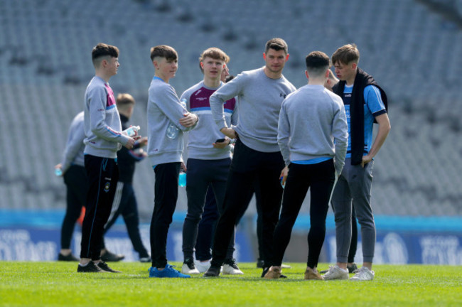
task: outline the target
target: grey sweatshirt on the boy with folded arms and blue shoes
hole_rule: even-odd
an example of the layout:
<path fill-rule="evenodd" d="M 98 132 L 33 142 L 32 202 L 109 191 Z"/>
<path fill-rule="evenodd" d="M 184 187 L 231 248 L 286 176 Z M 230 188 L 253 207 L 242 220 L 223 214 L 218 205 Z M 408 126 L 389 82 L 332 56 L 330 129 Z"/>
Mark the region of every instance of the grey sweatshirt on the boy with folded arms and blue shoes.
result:
<path fill-rule="evenodd" d="M 183 131 L 197 126 L 186 128 L 179 120 L 188 110 L 183 108 L 180 99 L 171 85 L 163 82 L 161 78 L 154 77 L 149 86 L 148 100 L 148 156 L 151 164 L 156 166 L 162 163 L 183 162 Z M 173 122 L 180 131 L 176 139 L 169 139 L 167 128 Z"/>

